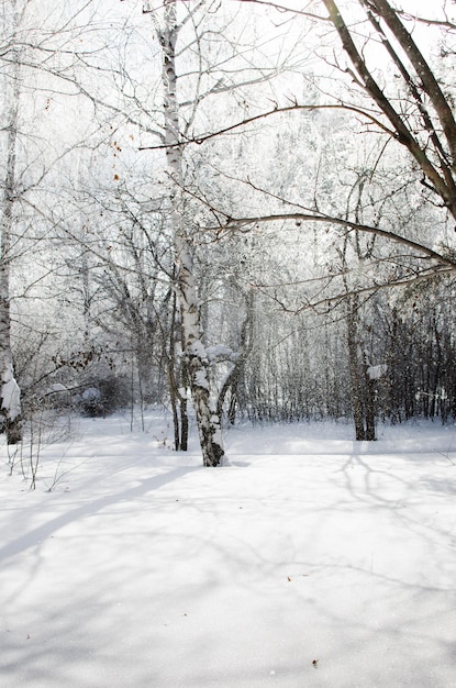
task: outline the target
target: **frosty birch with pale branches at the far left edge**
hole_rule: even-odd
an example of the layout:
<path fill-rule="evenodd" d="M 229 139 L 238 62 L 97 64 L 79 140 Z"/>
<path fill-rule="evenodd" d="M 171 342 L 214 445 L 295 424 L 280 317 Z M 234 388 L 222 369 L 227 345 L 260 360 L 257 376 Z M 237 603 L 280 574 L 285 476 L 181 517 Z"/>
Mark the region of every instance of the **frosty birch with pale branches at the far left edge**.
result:
<path fill-rule="evenodd" d="M 48 298 L 52 274 L 56 276 L 60 267 L 49 240 L 55 238 L 55 229 L 65 214 L 63 179 L 71 176 L 73 154 L 93 131 L 90 113 L 69 104 L 84 93 L 76 75 L 94 67 L 91 63 L 98 55 L 98 48 L 81 38 L 93 18 L 92 5 L 66 3 L 56 8 L 34 0 L 2 3 L 0 358 L 1 413 L 10 443 L 21 436 L 12 351 L 21 356 L 20 348 L 29 351 L 32 341 L 42 348 L 49 340 L 43 297 Z M 84 98 L 88 100 L 86 93 Z M 55 291 L 58 286 L 56 279 Z M 14 319 L 10 315 L 12 298 Z M 30 390 L 32 378 L 41 373 L 29 354 L 22 362 L 25 358 L 36 370 L 23 378 Z"/>

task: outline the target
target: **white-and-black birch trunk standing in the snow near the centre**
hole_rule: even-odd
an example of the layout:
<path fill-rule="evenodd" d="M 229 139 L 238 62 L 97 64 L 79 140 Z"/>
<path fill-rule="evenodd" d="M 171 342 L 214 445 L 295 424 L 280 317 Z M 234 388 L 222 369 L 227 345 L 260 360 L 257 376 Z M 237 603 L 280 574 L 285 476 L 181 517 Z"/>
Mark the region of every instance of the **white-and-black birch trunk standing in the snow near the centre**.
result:
<path fill-rule="evenodd" d="M 186 232 L 181 193 L 182 151 L 179 142 L 179 106 L 175 66 L 177 38 L 176 0 L 165 0 L 165 23 L 159 38 L 163 49 L 163 87 L 165 113 L 166 160 L 175 182 L 170 196 L 170 222 L 174 232 L 177 265 L 177 295 L 182 318 L 183 355 L 188 366 L 189 385 L 197 415 L 197 424 L 204 466 L 218 466 L 223 457 L 220 418 L 211 408 L 209 362 L 202 343 L 198 292 L 194 281 L 193 256 Z"/>

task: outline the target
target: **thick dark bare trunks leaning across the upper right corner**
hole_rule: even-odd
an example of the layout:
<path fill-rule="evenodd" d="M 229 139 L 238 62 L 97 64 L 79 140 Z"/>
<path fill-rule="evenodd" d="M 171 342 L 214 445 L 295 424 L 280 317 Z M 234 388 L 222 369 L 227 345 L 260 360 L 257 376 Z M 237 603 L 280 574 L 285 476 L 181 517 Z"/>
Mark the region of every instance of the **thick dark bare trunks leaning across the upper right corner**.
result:
<path fill-rule="evenodd" d="M 442 86 L 400 12 L 387 0 L 357 3 L 370 27 L 359 38 L 359 18 L 352 30 L 334 0 L 323 0 L 352 69 L 357 89 L 375 104 L 358 106 L 376 127 L 404 146 L 433 197 L 456 219 L 456 120 L 452 93 Z M 385 82 L 376 76 L 378 55 L 360 43 L 376 43 L 391 66 Z M 369 55 L 370 53 L 370 55 Z M 391 79 L 391 76 L 393 78 Z M 400 85 L 399 85 L 400 84 Z M 432 199 L 432 197 L 431 197 Z"/>

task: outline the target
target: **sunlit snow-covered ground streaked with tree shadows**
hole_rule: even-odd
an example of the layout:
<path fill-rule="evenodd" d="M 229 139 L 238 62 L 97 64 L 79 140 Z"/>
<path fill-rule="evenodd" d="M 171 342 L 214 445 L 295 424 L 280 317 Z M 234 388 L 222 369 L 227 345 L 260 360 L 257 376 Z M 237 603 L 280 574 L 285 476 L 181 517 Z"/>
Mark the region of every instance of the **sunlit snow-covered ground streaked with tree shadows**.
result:
<path fill-rule="evenodd" d="M 34 491 L 2 463 L 1 688 L 456 686 L 456 428 L 379 435 L 240 426 L 204 469 L 115 417 Z"/>

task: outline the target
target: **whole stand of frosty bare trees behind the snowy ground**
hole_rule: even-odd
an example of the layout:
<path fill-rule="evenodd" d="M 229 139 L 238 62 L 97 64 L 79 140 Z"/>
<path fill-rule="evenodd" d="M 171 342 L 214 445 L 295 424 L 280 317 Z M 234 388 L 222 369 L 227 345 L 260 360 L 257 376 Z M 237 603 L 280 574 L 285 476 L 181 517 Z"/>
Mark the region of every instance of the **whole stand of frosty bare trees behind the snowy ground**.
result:
<path fill-rule="evenodd" d="M 455 418 L 444 5 L 5 0 L 8 441 L 19 388 L 180 450 L 193 408 L 209 466 L 240 418 Z"/>

